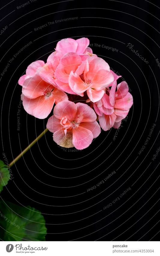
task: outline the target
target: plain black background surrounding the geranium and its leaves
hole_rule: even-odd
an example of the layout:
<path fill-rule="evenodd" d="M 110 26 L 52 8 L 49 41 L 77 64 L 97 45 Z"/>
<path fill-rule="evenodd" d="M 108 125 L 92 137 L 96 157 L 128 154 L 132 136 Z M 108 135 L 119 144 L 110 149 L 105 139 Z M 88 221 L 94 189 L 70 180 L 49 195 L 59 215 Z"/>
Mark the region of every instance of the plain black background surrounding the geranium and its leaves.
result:
<path fill-rule="evenodd" d="M 20 9 L 17 6 L 27 1 L 1 3 L 1 29 L 7 29 L 0 35 L 0 73 L 23 46 L 32 42 L 0 76 L 2 160 L 4 152 L 11 162 L 46 128 L 47 118 L 35 119 L 21 106 L 17 131 L 22 90 L 17 81 L 31 62 L 46 62 L 63 38 L 89 38 L 93 52 L 122 75 L 134 99 L 115 141 L 116 129 L 112 128 L 102 131 L 88 148 L 68 152 L 53 142 L 48 131 L 12 166 L 14 179 L 1 198 L 40 210 L 46 220 L 47 241 L 157 241 L 159 237 L 160 153 L 154 161 L 152 157 L 160 146 L 160 69 L 155 61 L 160 60 L 160 6 L 158 1 L 124 1 L 37 0 Z M 56 23 L 69 17 L 77 19 Z M 47 26 L 35 31 L 44 24 Z M 135 55 L 128 43 L 149 63 Z M 139 155 L 153 124 L 150 140 Z M 116 173 L 104 184 L 87 192 L 113 171 Z M 129 187 L 131 190 L 113 204 Z M 112 206 L 103 210 L 110 203 Z"/>

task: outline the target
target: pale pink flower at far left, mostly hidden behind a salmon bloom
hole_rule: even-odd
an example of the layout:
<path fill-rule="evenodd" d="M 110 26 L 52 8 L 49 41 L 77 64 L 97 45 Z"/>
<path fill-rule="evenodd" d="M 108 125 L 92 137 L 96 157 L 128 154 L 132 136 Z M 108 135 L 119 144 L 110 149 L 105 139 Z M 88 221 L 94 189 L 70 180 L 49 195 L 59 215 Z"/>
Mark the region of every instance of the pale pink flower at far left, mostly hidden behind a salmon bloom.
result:
<path fill-rule="evenodd" d="M 28 68 L 26 69 L 26 75 L 23 75 L 20 77 L 20 79 L 18 80 L 18 84 L 19 85 L 23 85 L 24 81 L 29 78 L 34 76 L 34 74 L 36 73 L 37 69 L 39 67 L 42 67 L 44 65 L 44 61 L 43 60 L 37 60 L 35 62 L 32 62 L 31 64 L 29 64 Z"/>

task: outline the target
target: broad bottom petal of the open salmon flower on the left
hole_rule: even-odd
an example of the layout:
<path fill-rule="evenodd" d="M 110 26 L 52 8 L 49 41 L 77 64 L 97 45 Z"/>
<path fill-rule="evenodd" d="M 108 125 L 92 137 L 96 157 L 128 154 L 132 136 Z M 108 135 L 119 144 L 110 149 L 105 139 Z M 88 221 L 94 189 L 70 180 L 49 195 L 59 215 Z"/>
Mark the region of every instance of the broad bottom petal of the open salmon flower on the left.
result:
<path fill-rule="evenodd" d="M 23 107 L 26 112 L 30 115 L 33 115 L 39 119 L 46 118 L 54 105 L 55 99 L 53 96 L 40 96 L 35 99 L 28 99 L 27 97 L 23 97 Z"/>

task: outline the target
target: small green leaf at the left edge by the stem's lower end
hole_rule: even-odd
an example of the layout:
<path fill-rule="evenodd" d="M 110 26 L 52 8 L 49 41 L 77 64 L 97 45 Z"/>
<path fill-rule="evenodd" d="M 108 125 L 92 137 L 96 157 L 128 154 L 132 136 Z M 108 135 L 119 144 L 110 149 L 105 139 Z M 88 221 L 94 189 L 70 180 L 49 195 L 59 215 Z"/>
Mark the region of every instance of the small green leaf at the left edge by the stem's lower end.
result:
<path fill-rule="evenodd" d="M 3 190 L 3 187 L 8 184 L 9 181 L 9 170 L 5 163 L 0 160 L 0 193 Z"/>

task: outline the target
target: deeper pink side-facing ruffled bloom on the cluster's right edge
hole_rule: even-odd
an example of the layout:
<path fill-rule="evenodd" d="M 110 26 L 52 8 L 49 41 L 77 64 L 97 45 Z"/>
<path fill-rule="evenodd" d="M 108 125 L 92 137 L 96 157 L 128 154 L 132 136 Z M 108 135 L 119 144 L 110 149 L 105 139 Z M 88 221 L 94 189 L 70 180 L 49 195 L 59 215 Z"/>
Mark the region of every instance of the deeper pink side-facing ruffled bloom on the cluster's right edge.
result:
<path fill-rule="evenodd" d="M 126 82 L 118 84 L 117 91 L 115 86 L 112 86 L 111 90 L 94 104 L 95 112 L 99 115 L 99 124 L 104 131 L 110 130 L 111 127 L 119 128 L 133 104 L 133 97 L 128 92 Z"/>

